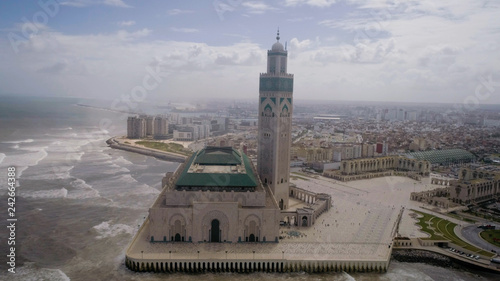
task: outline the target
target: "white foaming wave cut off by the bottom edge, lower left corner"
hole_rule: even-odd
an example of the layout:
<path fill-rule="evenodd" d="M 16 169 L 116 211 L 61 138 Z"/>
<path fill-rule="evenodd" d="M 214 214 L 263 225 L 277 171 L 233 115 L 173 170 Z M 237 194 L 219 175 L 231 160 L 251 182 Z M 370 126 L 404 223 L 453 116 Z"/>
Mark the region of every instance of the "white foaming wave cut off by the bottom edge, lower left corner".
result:
<path fill-rule="evenodd" d="M 55 280 L 71 281 L 71 279 L 60 269 L 39 268 L 34 262 L 26 262 L 21 267 L 16 267 L 16 274 L 10 274 L 9 280 L 37 281 Z"/>

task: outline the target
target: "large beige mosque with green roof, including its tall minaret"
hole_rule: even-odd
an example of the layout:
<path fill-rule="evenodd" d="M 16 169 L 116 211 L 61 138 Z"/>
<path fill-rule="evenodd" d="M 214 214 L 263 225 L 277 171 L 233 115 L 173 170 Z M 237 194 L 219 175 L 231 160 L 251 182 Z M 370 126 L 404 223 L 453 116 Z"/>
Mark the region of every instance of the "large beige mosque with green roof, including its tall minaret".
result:
<path fill-rule="evenodd" d="M 231 147 L 194 153 L 162 180 L 150 242 L 277 243 L 280 224 L 309 227 L 330 208 L 329 195 L 290 184 L 293 74 L 279 39 L 278 31 L 260 74 L 257 167 Z M 289 209 L 291 200 L 308 206 Z"/>

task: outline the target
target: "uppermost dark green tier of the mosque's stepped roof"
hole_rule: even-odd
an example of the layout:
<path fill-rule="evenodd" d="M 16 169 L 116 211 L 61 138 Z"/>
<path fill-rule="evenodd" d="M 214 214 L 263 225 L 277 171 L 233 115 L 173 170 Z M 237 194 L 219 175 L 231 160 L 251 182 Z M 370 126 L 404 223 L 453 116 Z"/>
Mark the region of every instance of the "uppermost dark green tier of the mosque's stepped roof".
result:
<path fill-rule="evenodd" d="M 197 153 L 194 163 L 213 166 L 238 165 L 241 163 L 241 155 L 231 147 L 207 147 Z"/>

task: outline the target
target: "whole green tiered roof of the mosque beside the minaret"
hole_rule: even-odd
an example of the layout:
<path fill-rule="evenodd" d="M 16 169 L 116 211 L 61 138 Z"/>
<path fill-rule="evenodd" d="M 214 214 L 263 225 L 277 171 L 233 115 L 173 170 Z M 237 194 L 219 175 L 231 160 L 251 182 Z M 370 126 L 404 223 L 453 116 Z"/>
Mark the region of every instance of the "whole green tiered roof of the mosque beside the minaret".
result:
<path fill-rule="evenodd" d="M 246 173 L 188 173 L 191 164 L 207 166 L 245 165 Z M 233 163 L 233 164 L 228 164 Z M 207 147 L 194 153 L 176 182 L 177 187 L 256 187 L 257 180 L 252 170 L 252 163 L 244 153 L 233 148 Z"/>

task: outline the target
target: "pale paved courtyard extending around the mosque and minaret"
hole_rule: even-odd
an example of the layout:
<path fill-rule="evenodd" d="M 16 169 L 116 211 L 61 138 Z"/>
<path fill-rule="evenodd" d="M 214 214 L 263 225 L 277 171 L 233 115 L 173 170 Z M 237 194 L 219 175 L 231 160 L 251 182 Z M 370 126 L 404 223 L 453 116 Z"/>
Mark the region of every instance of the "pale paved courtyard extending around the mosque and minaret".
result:
<path fill-rule="evenodd" d="M 425 236 L 409 215 L 409 209 L 420 206 L 409 198 L 413 191 L 434 188 L 429 178 L 422 182 L 405 177 L 340 182 L 322 176 L 301 176 L 292 183 L 332 195 L 333 207 L 310 228 L 282 227 L 280 243 L 150 243 L 146 221 L 128 253 L 136 258 L 165 260 L 386 260 L 403 207 L 400 234 Z M 293 199 L 290 205 L 298 208 L 306 204 Z"/>

